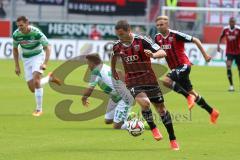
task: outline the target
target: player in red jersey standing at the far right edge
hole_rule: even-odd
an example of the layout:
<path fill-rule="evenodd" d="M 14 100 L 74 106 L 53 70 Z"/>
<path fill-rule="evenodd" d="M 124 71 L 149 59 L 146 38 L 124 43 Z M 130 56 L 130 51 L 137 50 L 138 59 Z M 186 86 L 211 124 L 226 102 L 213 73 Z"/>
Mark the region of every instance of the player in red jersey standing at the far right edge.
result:
<path fill-rule="evenodd" d="M 218 41 L 218 51 L 220 51 L 220 43 L 223 38 L 226 38 L 226 56 L 227 56 L 227 76 L 230 83 L 228 91 L 234 91 L 232 81 L 232 63 L 235 60 L 238 66 L 238 73 L 240 79 L 240 26 L 236 25 L 236 20 L 231 17 L 229 19 L 229 25 L 224 27 L 221 36 Z"/>

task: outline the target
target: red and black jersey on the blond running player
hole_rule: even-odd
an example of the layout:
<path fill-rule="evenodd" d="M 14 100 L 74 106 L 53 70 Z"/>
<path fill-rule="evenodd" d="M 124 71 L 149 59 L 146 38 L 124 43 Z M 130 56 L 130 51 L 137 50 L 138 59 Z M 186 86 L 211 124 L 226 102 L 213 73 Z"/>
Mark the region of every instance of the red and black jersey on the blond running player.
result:
<path fill-rule="evenodd" d="M 185 54 L 184 44 L 192 42 L 192 36 L 169 29 L 169 34 L 165 37 L 161 33 L 156 34 L 155 42 L 167 53 L 165 59 L 170 69 L 184 64 L 191 65 Z"/>

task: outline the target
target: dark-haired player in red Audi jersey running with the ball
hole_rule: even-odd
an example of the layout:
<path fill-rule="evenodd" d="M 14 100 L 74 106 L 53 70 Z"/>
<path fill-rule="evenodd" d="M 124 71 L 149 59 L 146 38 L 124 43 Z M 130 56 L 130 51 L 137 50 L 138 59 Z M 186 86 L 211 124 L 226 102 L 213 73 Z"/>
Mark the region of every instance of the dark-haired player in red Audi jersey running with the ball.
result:
<path fill-rule="evenodd" d="M 127 88 L 141 106 L 142 115 L 151 128 L 153 137 L 156 140 L 162 139 L 153 120 L 151 103 L 155 106 L 167 129 L 171 148 L 179 150 L 170 113 L 165 108 L 162 92 L 151 67 L 151 58 L 165 57 L 165 51 L 149 38 L 133 34 L 130 25 L 125 20 L 117 22 L 115 31 L 119 40 L 113 46 L 111 59 L 113 77 L 119 79 L 116 72 L 116 62 L 119 57 L 122 59 L 125 70 Z"/>

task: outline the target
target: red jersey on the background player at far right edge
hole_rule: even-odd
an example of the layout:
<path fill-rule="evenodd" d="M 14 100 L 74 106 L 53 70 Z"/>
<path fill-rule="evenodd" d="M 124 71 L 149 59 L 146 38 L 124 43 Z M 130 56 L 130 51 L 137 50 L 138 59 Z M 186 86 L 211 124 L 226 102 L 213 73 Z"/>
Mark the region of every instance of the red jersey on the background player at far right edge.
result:
<path fill-rule="evenodd" d="M 222 36 L 226 37 L 226 54 L 240 54 L 240 27 L 235 25 L 231 29 L 228 25 L 223 28 Z"/>

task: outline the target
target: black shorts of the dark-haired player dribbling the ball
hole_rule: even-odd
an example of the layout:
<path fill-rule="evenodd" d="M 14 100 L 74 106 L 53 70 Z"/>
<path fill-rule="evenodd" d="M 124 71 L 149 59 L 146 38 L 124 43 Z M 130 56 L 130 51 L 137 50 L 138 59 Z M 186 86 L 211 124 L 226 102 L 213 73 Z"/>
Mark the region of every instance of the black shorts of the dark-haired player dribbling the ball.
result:
<path fill-rule="evenodd" d="M 144 92 L 147 94 L 149 100 L 153 103 L 163 103 L 164 98 L 162 91 L 158 85 L 144 85 L 144 86 L 133 86 L 128 88 L 130 93 L 135 98 L 139 93 Z"/>

